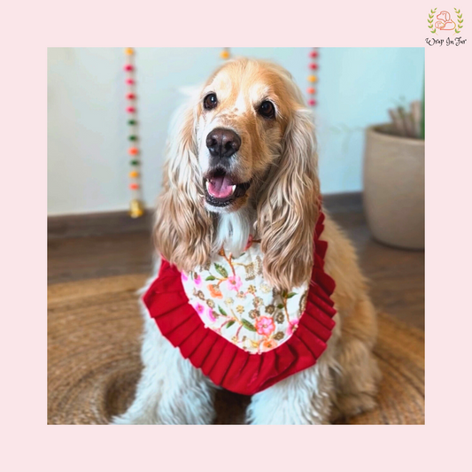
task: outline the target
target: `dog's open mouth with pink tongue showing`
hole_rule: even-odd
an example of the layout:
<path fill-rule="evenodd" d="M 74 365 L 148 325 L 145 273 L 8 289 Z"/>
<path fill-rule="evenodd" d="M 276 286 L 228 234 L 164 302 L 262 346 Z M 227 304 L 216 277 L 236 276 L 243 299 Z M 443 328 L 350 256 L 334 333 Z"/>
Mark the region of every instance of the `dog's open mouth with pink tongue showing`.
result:
<path fill-rule="evenodd" d="M 244 197 L 251 181 L 237 183 L 224 170 L 217 169 L 205 179 L 205 198 L 213 206 L 231 205 L 236 198 Z"/>

